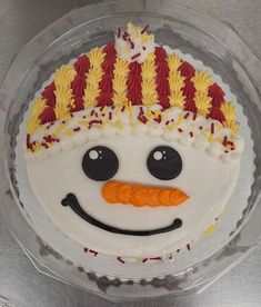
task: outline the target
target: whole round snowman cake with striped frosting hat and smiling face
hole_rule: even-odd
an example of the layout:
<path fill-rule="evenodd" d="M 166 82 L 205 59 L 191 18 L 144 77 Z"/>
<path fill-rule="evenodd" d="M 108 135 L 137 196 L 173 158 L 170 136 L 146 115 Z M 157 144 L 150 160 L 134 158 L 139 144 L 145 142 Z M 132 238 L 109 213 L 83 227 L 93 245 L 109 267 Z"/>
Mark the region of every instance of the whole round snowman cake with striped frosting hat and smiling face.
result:
<path fill-rule="evenodd" d="M 165 257 L 211 232 L 235 187 L 237 102 L 128 23 L 59 67 L 29 106 L 24 161 L 52 224 L 91 250 Z"/>

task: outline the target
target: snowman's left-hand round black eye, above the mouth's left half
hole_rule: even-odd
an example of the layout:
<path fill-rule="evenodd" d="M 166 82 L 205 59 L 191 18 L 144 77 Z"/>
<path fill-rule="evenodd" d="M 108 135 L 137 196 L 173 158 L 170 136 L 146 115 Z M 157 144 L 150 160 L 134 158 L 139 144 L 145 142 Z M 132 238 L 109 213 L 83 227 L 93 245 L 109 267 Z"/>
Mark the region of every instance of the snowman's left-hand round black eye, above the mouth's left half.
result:
<path fill-rule="evenodd" d="M 119 160 L 110 148 L 96 146 L 90 148 L 82 158 L 82 169 L 87 177 L 96 181 L 112 178 L 119 169 Z"/>

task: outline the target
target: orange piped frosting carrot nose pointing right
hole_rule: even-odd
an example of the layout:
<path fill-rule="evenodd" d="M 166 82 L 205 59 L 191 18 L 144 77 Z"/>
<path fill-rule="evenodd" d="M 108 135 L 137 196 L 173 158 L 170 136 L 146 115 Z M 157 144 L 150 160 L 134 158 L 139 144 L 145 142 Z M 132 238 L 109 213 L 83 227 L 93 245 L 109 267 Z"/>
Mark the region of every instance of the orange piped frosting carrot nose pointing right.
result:
<path fill-rule="evenodd" d="M 110 204 L 130 204 L 135 207 L 179 206 L 190 197 L 179 189 L 108 181 L 102 196 Z"/>

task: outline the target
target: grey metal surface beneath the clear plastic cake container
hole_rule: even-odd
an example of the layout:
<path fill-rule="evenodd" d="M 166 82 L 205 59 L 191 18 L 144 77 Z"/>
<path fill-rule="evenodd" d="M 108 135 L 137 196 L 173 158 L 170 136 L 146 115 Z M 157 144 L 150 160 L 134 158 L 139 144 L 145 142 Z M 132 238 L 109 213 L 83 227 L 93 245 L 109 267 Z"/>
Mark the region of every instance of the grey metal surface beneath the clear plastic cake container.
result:
<path fill-rule="evenodd" d="M 71 10 L 77 2 L 88 1 L 0 0 L 0 79 L 3 78 L 13 53 L 51 21 Z M 179 2 L 229 21 L 261 56 L 260 0 L 198 0 L 197 3 L 193 0 L 180 0 Z M 10 299 L 18 307 L 112 305 L 40 275 L 1 221 L 0 296 Z M 119 306 L 261 306 L 261 246 L 200 295 Z"/>

